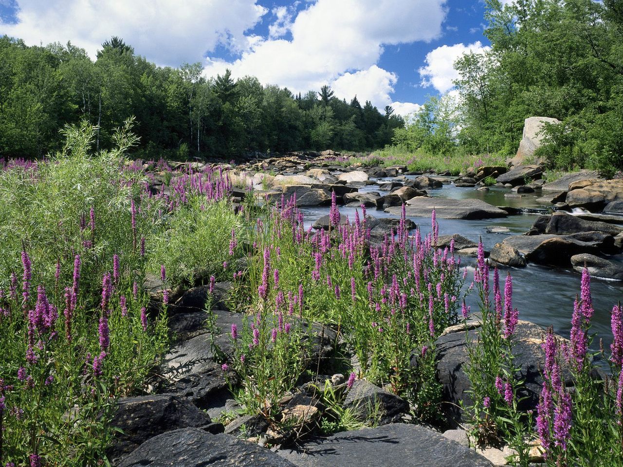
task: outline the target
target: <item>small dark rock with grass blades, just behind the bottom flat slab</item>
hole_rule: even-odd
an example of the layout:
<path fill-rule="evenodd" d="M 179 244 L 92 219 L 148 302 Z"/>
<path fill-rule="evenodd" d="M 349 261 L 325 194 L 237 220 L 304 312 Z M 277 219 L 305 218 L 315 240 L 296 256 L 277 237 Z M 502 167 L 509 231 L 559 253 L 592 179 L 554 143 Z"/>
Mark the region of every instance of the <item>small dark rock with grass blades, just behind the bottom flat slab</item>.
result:
<path fill-rule="evenodd" d="M 374 412 L 377 405 L 379 413 Z M 351 408 L 359 420 L 369 420 L 379 425 L 397 422 L 409 412 L 406 400 L 363 379 L 356 380 L 348 390 L 344 407 Z"/>

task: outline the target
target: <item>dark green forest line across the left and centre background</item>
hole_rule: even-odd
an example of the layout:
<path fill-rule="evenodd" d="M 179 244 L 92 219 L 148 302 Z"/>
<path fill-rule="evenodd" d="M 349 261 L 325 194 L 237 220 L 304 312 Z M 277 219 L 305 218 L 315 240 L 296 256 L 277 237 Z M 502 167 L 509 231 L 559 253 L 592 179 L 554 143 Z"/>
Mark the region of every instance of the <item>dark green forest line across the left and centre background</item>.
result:
<path fill-rule="evenodd" d="M 93 61 L 71 43 L 27 46 L 0 37 L 0 157 L 34 158 L 59 148 L 59 129 L 81 120 L 98 127 L 96 149 L 136 117 L 145 158 L 235 157 L 249 151 L 335 148 L 391 143 L 404 126 L 391 106 L 379 111 L 335 97 L 328 86 L 294 95 L 255 77 L 206 78 L 202 66 L 158 67 L 112 37 Z"/>

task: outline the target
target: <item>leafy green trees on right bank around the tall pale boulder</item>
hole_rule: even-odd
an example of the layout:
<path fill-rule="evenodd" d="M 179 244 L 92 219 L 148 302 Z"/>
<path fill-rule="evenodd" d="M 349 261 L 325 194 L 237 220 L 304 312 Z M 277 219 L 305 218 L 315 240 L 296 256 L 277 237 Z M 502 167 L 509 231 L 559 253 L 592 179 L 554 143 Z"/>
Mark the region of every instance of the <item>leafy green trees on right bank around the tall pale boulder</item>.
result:
<path fill-rule="evenodd" d="M 452 155 L 513 156 L 530 116 L 558 118 L 535 154 L 550 167 L 623 169 L 623 0 L 487 0 L 491 48 L 454 64 L 394 143 Z"/>

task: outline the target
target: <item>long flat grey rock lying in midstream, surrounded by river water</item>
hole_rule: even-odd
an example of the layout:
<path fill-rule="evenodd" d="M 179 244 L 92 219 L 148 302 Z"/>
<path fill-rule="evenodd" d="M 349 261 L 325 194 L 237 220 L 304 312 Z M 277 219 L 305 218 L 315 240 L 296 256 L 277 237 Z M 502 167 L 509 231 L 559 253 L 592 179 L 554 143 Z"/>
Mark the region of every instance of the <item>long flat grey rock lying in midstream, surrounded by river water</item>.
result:
<path fill-rule="evenodd" d="M 407 201 L 406 214 L 409 217 L 430 217 L 435 209 L 439 219 L 488 219 L 506 217 L 506 212 L 480 199 L 428 198 L 417 196 Z M 400 208 L 386 209 L 391 214 L 399 215 Z"/>

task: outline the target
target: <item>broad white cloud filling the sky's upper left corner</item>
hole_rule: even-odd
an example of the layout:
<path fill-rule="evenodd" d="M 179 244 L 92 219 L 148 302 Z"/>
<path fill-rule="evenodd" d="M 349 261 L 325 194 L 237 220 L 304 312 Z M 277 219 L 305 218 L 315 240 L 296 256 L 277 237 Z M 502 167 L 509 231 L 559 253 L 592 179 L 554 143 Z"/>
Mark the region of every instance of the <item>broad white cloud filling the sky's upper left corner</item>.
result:
<path fill-rule="evenodd" d="M 267 12 L 257 0 L 21 0 L 17 24 L 0 22 L 0 32 L 31 45 L 71 40 L 92 57 L 117 35 L 157 64 L 178 66 L 218 44 L 248 49 L 254 37 L 245 31 Z"/>

